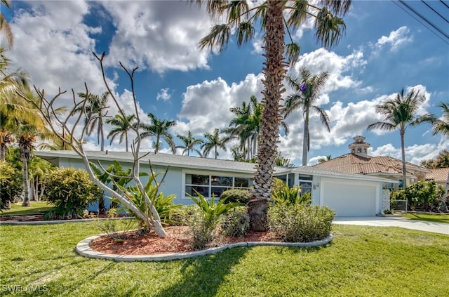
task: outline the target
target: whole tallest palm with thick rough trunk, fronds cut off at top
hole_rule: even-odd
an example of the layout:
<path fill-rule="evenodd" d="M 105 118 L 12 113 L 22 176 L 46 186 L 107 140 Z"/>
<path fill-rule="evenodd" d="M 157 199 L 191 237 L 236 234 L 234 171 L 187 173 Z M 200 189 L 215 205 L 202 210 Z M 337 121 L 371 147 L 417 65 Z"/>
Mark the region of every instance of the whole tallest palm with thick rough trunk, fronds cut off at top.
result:
<path fill-rule="evenodd" d="M 255 25 L 261 26 L 264 36 L 264 113 L 261 122 L 259 151 L 254 176 L 254 186 L 248 203 L 250 227 L 255 231 L 267 230 L 267 209 L 271 201 L 274 164 L 281 122 L 279 104 L 286 75 L 286 58 L 294 63 L 300 55 L 300 46 L 295 42 L 285 45 L 286 32 L 292 39 L 291 29 L 297 29 L 310 15 L 315 18 L 316 38 L 323 46 L 332 46 L 339 41 L 345 25 L 342 18 L 349 11 L 350 0 L 314 1 L 264 1 L 260 6 L 250 7 L 247 1 L 201 1 L 207 12 L 215 19 L 225 17 L 225 23 L 214 25 L 210 34 L 201 39 L 201 48 L 218 49 L 222 52 L 232 32 L 236 44 L 241 46 L 255 36 Z M 323 4 L 323 7 L 316 5 Z M 286 13 L 284 13 L 284 11 Z"/>

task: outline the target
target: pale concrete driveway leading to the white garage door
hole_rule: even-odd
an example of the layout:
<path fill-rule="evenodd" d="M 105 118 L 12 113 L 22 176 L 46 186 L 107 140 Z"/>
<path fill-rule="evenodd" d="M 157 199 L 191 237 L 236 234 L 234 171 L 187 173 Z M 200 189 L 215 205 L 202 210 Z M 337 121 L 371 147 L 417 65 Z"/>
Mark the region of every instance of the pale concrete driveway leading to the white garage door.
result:
<path fill-rule="evenodd" d="M 342 225 L 366 225 L 376 227 L 403 227 L 406 229 L 449 235 L 449 224 L 425 222 L 423 220 L 410 220 L 408 218 L 401 217 L 335 217 L 333 223 Z"/>

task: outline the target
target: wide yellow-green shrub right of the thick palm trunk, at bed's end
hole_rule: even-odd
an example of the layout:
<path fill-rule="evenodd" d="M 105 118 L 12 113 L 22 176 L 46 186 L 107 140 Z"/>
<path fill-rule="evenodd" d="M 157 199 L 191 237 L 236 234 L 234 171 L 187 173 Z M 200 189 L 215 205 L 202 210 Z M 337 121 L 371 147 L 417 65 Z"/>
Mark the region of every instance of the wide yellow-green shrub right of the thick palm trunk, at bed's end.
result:
<path fill-rule="evenodd" d="M 334 216 L 326 206 L 281 203 L 269 208 L 268 224 L 284 242 L 313 242 L 330 235 Z"/>

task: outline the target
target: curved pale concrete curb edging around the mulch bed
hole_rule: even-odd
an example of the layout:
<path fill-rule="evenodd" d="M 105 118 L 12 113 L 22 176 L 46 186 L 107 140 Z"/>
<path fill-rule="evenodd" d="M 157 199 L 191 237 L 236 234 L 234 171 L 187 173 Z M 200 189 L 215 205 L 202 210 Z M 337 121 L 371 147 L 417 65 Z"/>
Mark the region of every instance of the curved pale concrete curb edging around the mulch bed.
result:
<path fill-rule="evenodd" d="M 162 253 L 159 255 L 118 255 L 112 253 L 100 253 L 98 251 L 93 251 L 89 244 L 98 237 L 103 235 L 94 235 L 86 239 L 81 240 L 76 244 L 76 252 L 81 256 L 95 259 L 109 259 L 115 260 L 116 262 L 133 262 L 133 261 L 161 261 L 161 260 L 177 260 L 185 258 L 194 258 L 197 256 L 206 256 L 213 253 L 218 253 L 224 251 L 225 249 L 232 249 L 238 246 L 295 246 L 295 247 L 314 247 L 323 246 L 332 241 L 333 235 L 330 234 L 325 239 L 317 240 L 315 242 L 237 242 L 235 244 L 225 244 L 223 246 L 217 246 L 211 249 L 204 249 L 201 251 L 189 251 L 185 253 Z"/>

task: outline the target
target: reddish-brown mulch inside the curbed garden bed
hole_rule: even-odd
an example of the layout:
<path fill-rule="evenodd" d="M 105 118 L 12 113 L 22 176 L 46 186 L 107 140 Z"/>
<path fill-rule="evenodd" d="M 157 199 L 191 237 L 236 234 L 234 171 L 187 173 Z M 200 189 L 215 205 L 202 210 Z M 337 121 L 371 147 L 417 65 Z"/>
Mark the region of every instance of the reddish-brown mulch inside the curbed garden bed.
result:
<path fill-rule="evenodd" d="M 90 246 L 94 251 L 119 255 L 157 255 L 161 253 L 180 253 L 194 251 L 192 236 L 187 226 L 170 226 L 165 228 L 167 236 L 160 238 L 154 232 L 137 235 L 128 232 L 123 241 L 108 236 L 93 240 Z M 222 246 L 235 242 L 281 242 L 273 232 L 249 232 L 246 237 L 220 237 L 208 247 Z"/>

